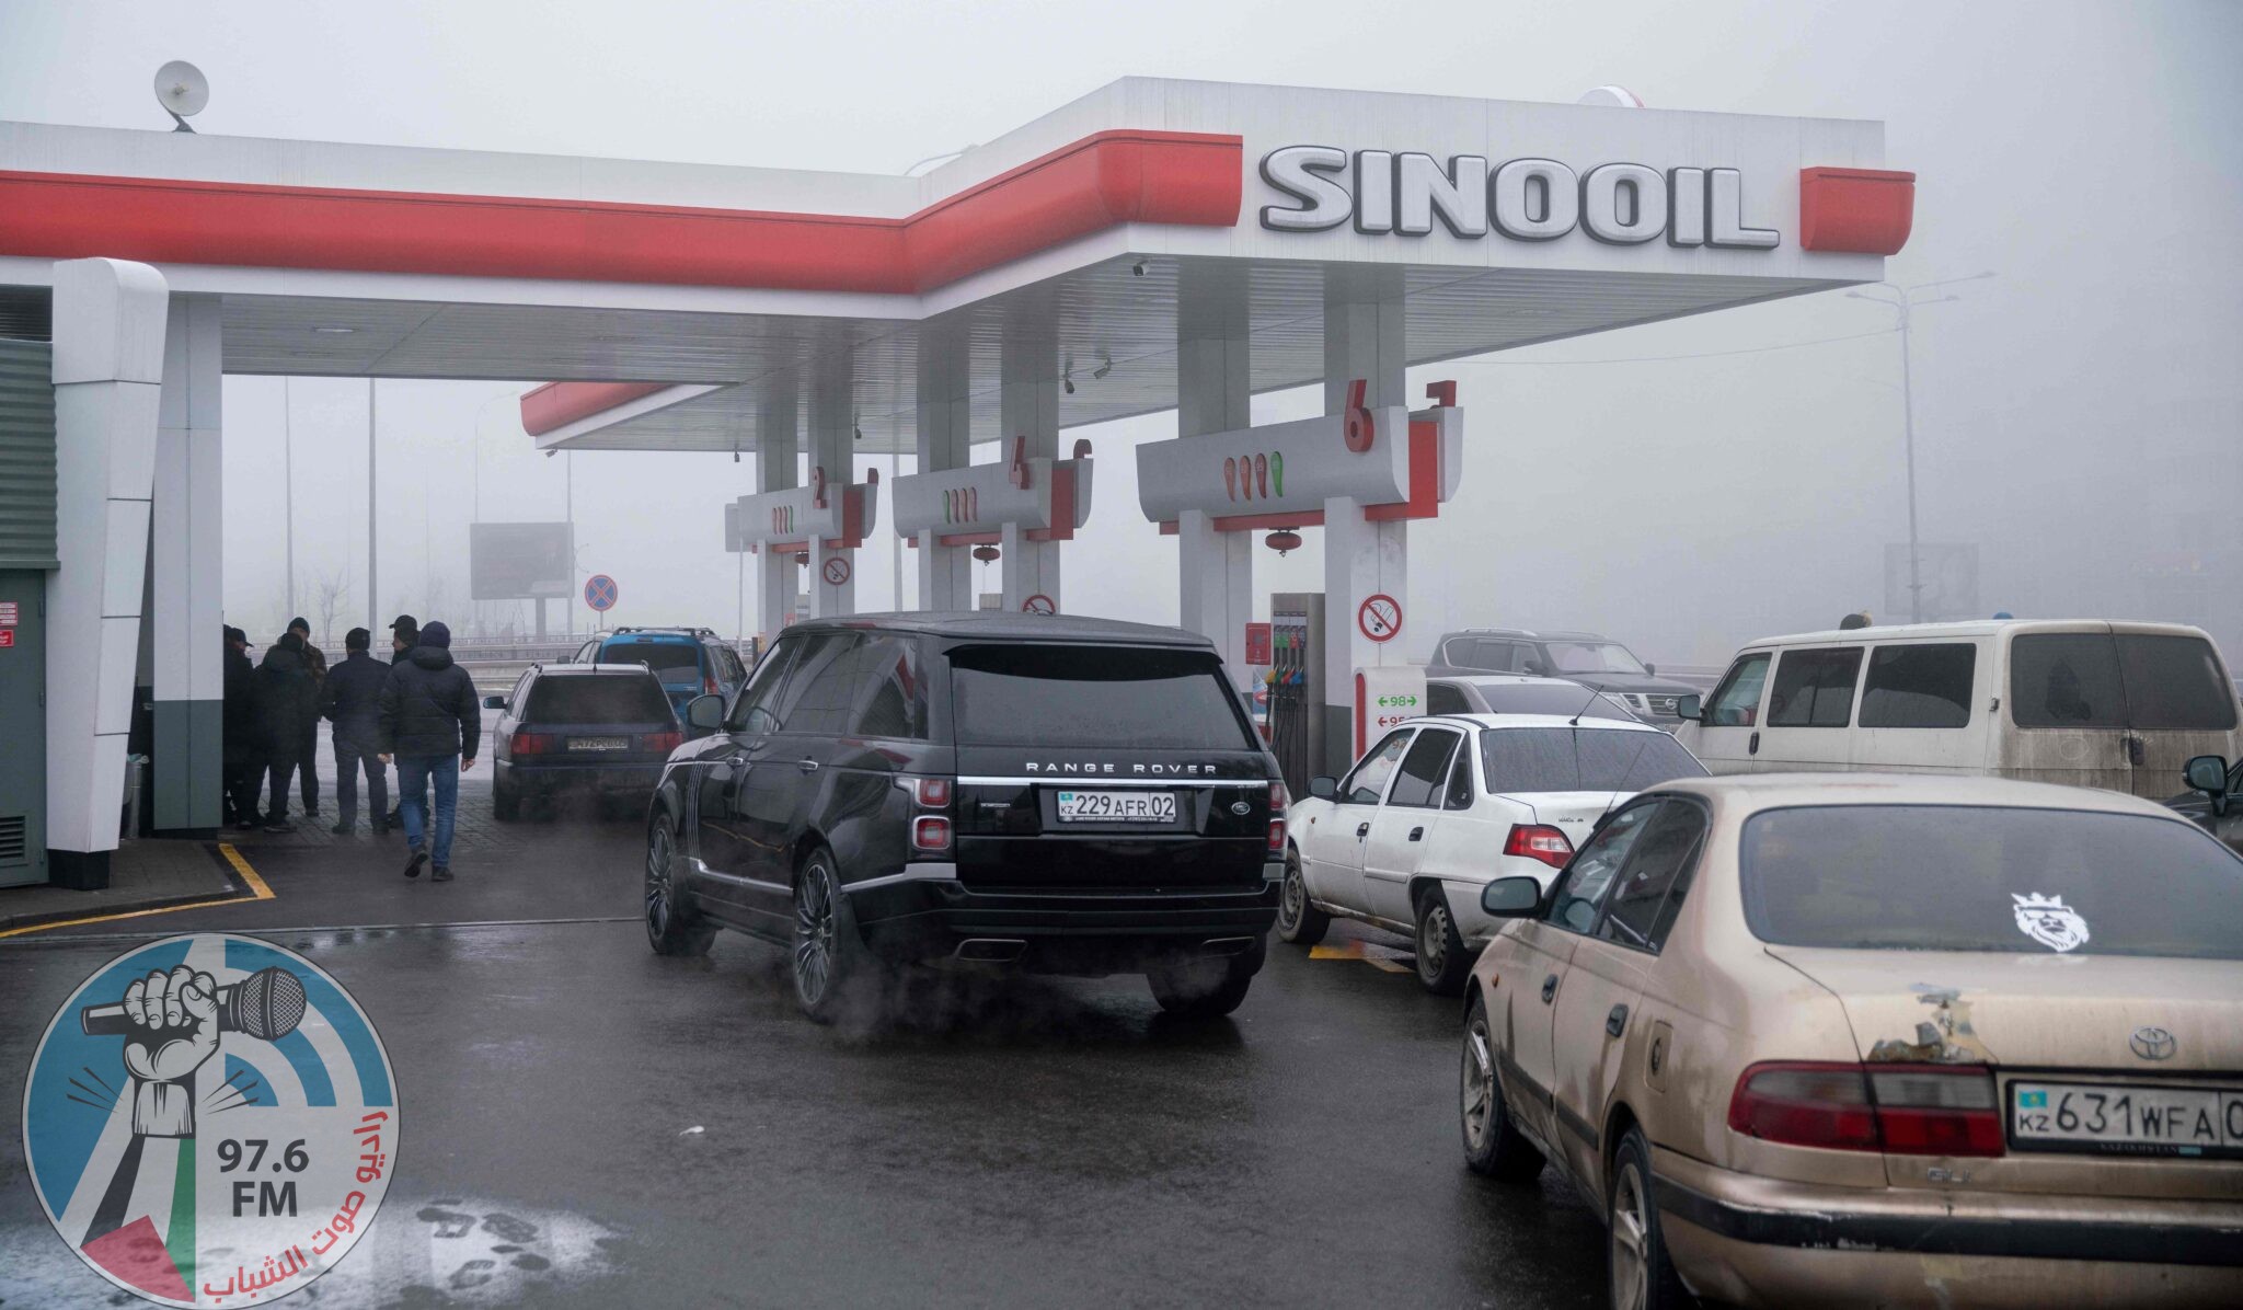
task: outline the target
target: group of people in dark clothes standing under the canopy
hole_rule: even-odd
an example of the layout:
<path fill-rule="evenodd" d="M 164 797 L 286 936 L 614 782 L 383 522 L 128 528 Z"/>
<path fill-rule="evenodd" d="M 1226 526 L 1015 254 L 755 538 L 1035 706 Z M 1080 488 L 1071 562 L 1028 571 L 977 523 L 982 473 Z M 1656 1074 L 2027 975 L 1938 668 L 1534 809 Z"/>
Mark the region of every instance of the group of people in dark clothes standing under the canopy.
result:
<path fill-rule="evenodd" d="M 359 778 L 366 778 L 375 837 L 404 828 L 406 877 L 433 864 L 431 882 L 451 882 L 451 837 L 460 772 L 476 767 L 482 709 L 476 682 L 451 657 L 451 628 L 413 615 L 390 624 L 390 657 L 375 659 L 372 635 L 343 635 L 343 662 L 330 666 L 312 644 L 312 624 L 292 619 L 256 664 L 249 635 L 227 628 L 224 812 L 240 830 L 289 832 L 289 783 L 303 812 L 319 817 L 319 720 L 334 725 L 332 832 L 359 823 Z M 397 763 L 397 810 L 388 808 L 388 765 Z M 271 787 L 262 812 L 260 790 Z M 435 812 L 428 794 L 435 792 Z"/>

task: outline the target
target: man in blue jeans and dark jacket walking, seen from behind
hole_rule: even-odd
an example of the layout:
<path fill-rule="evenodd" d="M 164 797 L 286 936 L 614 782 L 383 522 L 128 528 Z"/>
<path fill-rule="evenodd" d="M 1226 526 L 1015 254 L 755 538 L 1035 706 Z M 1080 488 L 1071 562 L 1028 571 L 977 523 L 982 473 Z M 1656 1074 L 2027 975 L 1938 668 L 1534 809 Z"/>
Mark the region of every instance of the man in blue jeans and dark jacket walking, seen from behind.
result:
<path fill-rule="evenodd" d="M 381 760 L 397 758 L 397 792 L 406 821 L 406 877 L 451 882 L 451 828 L 460 810 L 460 772 L 476 767 L 482 704 L 476 680 L 451 662 L 451 628 L 431 621 L 381 684 Z M 435 823 L 424 787 L 435 783 Z"/>

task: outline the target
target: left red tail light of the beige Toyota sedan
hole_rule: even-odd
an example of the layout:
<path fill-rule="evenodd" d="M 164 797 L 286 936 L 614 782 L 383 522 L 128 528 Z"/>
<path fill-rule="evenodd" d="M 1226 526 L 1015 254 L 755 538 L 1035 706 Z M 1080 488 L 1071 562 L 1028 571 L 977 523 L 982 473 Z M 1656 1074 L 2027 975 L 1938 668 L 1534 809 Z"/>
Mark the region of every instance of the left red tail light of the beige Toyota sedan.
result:
<path fill-rule="evenodd" d="M 1756 1063 L 1729 1128 L 1785 1146 L 1889 1155 L 2001 1155 L 1994 1072 L 1954 1065 Z"/>

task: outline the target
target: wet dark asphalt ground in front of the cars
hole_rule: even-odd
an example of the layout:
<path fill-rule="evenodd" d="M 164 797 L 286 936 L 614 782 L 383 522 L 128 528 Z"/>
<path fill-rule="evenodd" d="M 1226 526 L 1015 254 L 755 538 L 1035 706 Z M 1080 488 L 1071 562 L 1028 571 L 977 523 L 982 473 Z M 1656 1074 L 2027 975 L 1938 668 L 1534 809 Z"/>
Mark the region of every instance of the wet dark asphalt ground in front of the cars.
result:
<path fill-rule="evenodd" d="M 1139 978 L 953 978 L 828 1030 L 772 947 L 646 949 L 630 821 L 505 843 L 449 886 L 366 839 L 244 848 L 274 900 L 0 944 L 0 1081 L 96 965 L 229 929 L 350 987 L 399 1079 L 379 1220 L 292 1303 L 1602 1303 L 1586 1205 L 1462 1169 L 1458 1012 L 1409 976 L 1272 944 L 1218 1023 L 1166 1021 Z M 119 1299 L 11 1126 L 0 1303 Z"/>

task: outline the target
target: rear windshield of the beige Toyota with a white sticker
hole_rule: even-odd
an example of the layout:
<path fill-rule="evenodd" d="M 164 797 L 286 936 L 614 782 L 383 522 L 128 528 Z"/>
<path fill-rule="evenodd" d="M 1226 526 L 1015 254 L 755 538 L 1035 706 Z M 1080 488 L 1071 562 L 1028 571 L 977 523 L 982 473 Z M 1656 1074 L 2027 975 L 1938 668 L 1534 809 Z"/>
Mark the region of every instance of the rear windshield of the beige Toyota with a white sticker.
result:
<path fill-rule="evenodd" d="M 2243 960 L 2243 859 L 2173 819 L 1810 805 L 1745 821 L 1763 942 Z"/>

